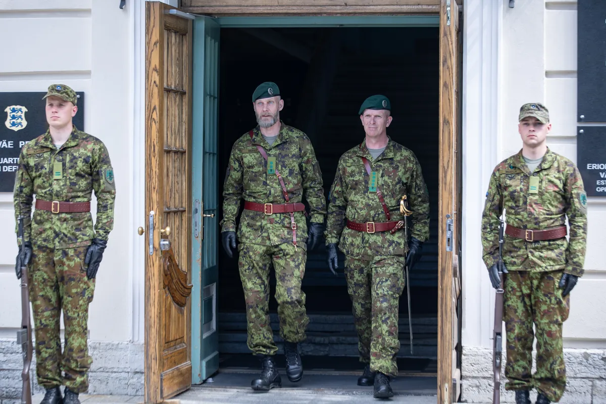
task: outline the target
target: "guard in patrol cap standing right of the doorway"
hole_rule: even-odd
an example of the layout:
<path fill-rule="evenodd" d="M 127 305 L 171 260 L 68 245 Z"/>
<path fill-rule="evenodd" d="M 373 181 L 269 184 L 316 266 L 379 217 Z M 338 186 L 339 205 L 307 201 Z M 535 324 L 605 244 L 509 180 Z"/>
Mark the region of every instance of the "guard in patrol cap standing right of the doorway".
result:
<path fill-rule="evenodd" d="M 484 262 L 493 287 L 500 288 L 498 228 L 506 211 L 505 388 L 516 391 L 517 404 L 530 404 L 532 388 L 539 404 L 558 402 L 564 394 L 562 323 L 568 318 L 568 294 L 584 271 L 587 194 L 574 163 L 547 148 L 550 130 L 544 105 L 522 105 L 518 131 L 524 145 L 494 168 L 482 215 Z M 533 323 L 537 363 L 531 374 Z"/>

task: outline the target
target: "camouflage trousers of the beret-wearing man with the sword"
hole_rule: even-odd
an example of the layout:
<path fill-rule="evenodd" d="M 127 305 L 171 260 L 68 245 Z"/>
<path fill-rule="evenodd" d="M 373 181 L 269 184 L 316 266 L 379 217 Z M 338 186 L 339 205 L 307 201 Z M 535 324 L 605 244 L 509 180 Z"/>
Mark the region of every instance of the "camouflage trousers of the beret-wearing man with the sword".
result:
<path fill-rule="evenodd" d="M 372 371 L 389 376 L 398 374 L 398 311 L 406 285 L 404 263 L 404 256 L 345 258 L 360 362 L 370 363 Z"/>

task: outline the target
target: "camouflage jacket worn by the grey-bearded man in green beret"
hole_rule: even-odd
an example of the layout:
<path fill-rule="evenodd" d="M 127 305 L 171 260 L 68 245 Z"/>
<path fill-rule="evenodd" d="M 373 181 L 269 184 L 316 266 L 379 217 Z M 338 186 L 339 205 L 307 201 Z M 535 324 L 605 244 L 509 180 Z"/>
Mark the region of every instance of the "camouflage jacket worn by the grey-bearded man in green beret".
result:
<path fill-rule="evenodd" d="M 289 203 L 301 202 L 305 196 L 311 222 L 324 223 L 326 200 L 322 189 L 322 172 L 305 133 L 285 125 L 273 145 L 261 135 L 259 127 L 253 130 L 253 139 L 245 133 L 233 148 L 225 174 L 223 191 L 223 220 L 221 231 L 236 230 L 236 216 L 242 199 L 258 204 L 285 204 L 282 187 L 275 174 L 267 173 L 267 162 L 256 145 L 261 145 L 269 158 L 276 158 L 276 168 L 288 191 Z M 295 213 L 297 239 L 307 239 L 307 224 L 303 212 Z M 242 211 L 238 240 L 259 245 L 279 245 L 293 242 L 290 214 L 266 215 L 250 210 Z M 298 243 L 302 245 L 304 243 Z"/>

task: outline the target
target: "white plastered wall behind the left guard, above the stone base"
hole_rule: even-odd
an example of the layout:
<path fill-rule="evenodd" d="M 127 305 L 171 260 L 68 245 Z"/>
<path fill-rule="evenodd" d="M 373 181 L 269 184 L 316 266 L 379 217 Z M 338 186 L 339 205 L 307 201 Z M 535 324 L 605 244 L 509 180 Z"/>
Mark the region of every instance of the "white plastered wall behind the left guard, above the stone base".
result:
<path fill-rule="evenodd" d="M 115 222 L 88 321 L 90 339 L 97 341 L 128 341 L 133 334 L 133 18 L 118 3 L 0 0 L 0 38 L 19 38 L 19 57 L 2 56 L 0 91 L 46 91 L 53 83 L 84 91 L 84 130 L 105 143 L 112 159 Z M 5 224 L 0 228 L 0 337 L 5 338 L 15 337 L 21 323 L 12 200 L 12 193 L 0 193 Z"/>

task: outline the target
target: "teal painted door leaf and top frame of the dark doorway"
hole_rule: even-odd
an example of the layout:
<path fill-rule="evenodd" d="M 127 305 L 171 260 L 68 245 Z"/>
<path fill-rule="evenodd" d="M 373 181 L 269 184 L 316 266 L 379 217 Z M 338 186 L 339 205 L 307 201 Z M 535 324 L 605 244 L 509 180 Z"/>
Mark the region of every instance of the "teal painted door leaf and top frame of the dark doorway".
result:
<path fill-rule="evenodd" d="M 193 24 L 191 383 L 219 368 L 218 98 L 220 28 L 438 27 L 439 16 L 224 17 Z M 202 217 L 215 214 L 215 217 Z M 203 238 L 202 240 L 202 224 Z"/>

